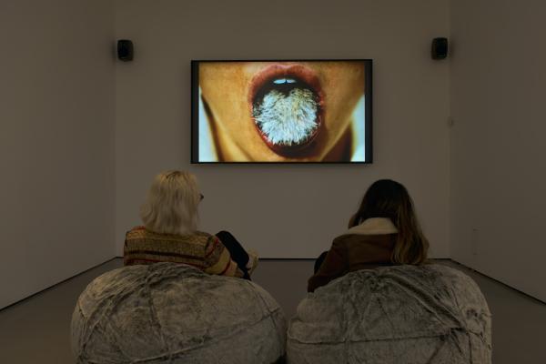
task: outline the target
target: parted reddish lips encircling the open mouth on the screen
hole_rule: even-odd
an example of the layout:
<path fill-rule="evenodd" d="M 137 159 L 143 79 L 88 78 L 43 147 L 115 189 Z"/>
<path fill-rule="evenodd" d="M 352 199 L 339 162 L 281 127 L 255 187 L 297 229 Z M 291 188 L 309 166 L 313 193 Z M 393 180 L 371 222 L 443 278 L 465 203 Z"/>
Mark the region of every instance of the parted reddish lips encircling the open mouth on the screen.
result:
<path fill-rule="evenodd" d="M 300 81 L 304 82 L 312 88 L 312 91 L 318 97 L 318 112 L 315 122 L 317 127 L 313 133 L 306 139 L 302 144 L 283 146 L 278 144 L 273 144 L 268 140 L 268 137 L 264 135 L 262 130 L 258 127 L 256 121 L 254 122 L 258 135 L 264 140 L 266 145 L 273 150 L 275 153 L 281 156 L 294 157 L 301 153 L 304 149 L 307 149 L 315 140 L 316 136 L 319 134 L 320 127 L 322 126 L 322 119 L 324 115 L 324 97 L 322 94 L 322 88 L 320 87 L 319 77 L 317 74 L 310 68 L 298 64 L 275 64 L 267 66 L 262 71 L 260 71 L 256 76 L 254 76 L 250 82 L 250 90 L 248 93 L 248 104 L 250 105 L 250 115 L 253 115 L 252 109 L 254 107 L 254 100 L 258 94 L 258 91 L 261 87 L 265 86 L 268 82 L 271 82 L 276 78 L 297 78 Z"/>

